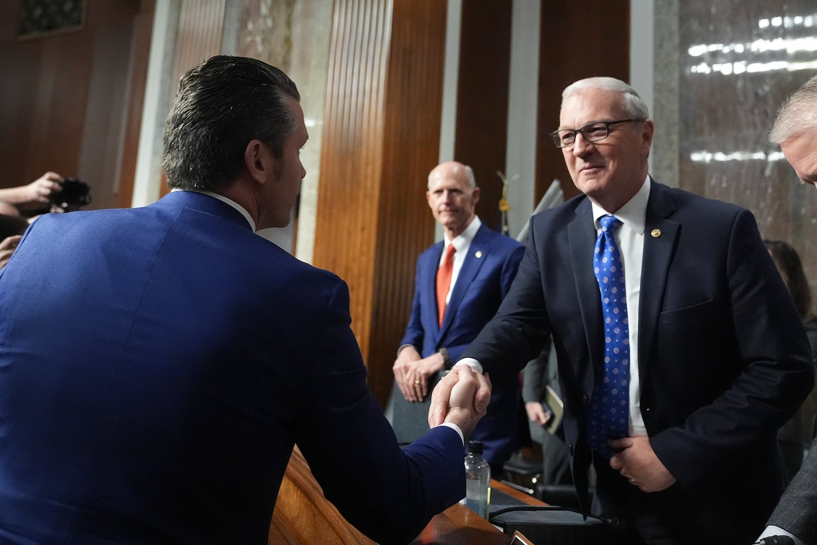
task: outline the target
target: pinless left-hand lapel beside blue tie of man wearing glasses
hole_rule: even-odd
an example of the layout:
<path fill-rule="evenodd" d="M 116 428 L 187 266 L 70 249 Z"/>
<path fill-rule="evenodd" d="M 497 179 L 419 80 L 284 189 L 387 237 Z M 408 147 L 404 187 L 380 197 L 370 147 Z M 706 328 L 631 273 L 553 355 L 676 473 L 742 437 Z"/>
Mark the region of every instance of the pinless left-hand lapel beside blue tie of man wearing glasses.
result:
<path fill-rule="evenodd" d="M 584 199 L 576 208 L 576 218 L 568 226 L 570 256 L 576 280 L 576 296 L 587 337 L 587 351 L 594 366 L 604 358 L 602 339 L 601 296 L 596 275 L 593 274 L 593 248 L 596 247 L 596 228 L 593 226 L 590 199 Z"/>

